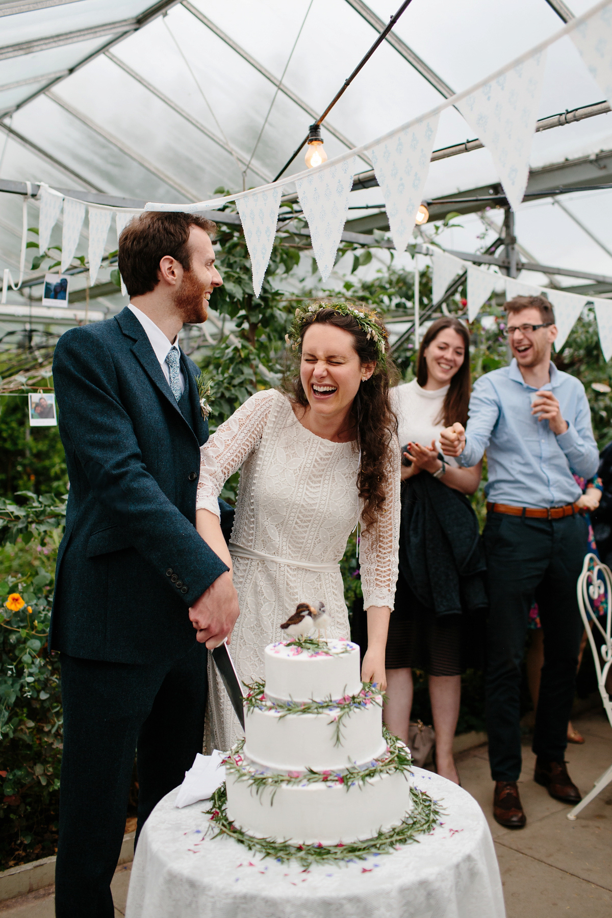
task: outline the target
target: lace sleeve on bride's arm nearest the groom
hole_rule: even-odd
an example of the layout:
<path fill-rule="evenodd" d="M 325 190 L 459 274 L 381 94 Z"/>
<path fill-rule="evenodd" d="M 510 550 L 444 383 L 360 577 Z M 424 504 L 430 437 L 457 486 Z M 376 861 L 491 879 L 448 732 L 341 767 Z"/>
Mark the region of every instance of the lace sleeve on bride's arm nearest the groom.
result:
<path fill-rule="evenodd" d="M 217 498 L 221 488 L 259 446 L 274 396 L 274 389 L 266 389 L 247 398 L 200 447 L 196 510 L 210 510 L 219 516 Z"/>

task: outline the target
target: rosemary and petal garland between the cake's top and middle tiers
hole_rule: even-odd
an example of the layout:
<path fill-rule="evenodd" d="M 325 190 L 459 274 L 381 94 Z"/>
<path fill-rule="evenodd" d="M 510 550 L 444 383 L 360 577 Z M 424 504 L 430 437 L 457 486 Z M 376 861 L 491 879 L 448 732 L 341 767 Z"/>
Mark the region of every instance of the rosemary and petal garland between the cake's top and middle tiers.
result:
<path fill-rule="evenodd" d="M 344 695 L 340 699 L 332 700 L 331 696 L 321 700 L 309 701 L 277 700 L 270 699 L 265 693 L 265 682 L 243 683 L 247 694 L 244 707 L 249 711 L 276 711 L 281 718 L 288 714 L 328 714 L 330 723 L 334 726 L 334 745 L 342 744 L 342 722 L 351 716 L 354 711 L 362 711 L 376 705 L 383 707 L 385 696 L 376 689 L 373 682 L 362 682 L 362 690 L 357 695 Z"/>

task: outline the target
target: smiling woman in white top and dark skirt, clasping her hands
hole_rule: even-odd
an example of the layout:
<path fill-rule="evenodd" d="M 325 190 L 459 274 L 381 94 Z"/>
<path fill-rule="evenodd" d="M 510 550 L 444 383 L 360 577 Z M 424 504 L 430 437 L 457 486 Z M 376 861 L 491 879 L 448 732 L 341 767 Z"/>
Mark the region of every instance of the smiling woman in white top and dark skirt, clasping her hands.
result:
<path fill-rule="evenodd" d="M 398 386 L 392 405 L 402 466 L 402 523 L 395 612 L 386 646 L 384 720 L 405 742 L 412 707 L 412 669 L 428 673 L 436 731 L 436 766 L 459 783 L 452 738 L 459 717 L 466 616 L 484 610 L 484 554 L 466 494 L 482 463 L 460 468 L 439 453 L 440 430 L 467 420 L 469 337 L 458 319 L 438 319 L 420 346 L 417 379 Z"/>

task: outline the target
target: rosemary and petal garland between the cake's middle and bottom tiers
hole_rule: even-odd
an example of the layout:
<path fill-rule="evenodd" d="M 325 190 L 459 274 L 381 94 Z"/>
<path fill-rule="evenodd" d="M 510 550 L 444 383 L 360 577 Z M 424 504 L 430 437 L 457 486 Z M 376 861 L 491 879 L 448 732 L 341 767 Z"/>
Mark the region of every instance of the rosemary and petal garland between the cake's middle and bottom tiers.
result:
<path fill-rule="evenodd" d="M 374 758 L 369 765 L 362 767 L 351 765 L 342 768 L 341 771 L 315 771 L 314 768 L 306 768 L 306 771 L 279 772 L 272 771 L 270 768 L 258 768 L 248 760 L 245 761 L 242 756 L 244 740 L 239 740 L 233 746 L 223 760 L 223 764 L 226 767 L 226 774 L 236 778 L 237 781 L 249 781 L 256 794 L 261 794 L 267 788 L 271 789 L 271 803 L 276 791 L 283 786 L 304 787 L 306 784 L 327 783 L 340 784 L 349 790 L 354 785 L 360 782 L 365 784 L 371 778 L 377 778 L 379 775 L 395 774 L 398 771 L 406 774 L 410 771 L 412 766 L 410 750 L 384 726 L 383 735 L 387 747 L 382 756 Z"/>

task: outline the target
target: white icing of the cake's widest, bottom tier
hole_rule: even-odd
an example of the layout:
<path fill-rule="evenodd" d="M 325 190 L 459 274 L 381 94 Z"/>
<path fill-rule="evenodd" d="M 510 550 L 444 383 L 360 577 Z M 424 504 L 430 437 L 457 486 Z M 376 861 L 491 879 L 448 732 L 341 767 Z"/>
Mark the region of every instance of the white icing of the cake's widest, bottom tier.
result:
<path fill-rule="evenodd" d="M 228 816 L 247 834 L 301 845 L 338 845 L 373 838 L 412 809 L 411 781 L 401 772 L 344 785 L 282 785 L 256 793 L 228 775 Z"/>

